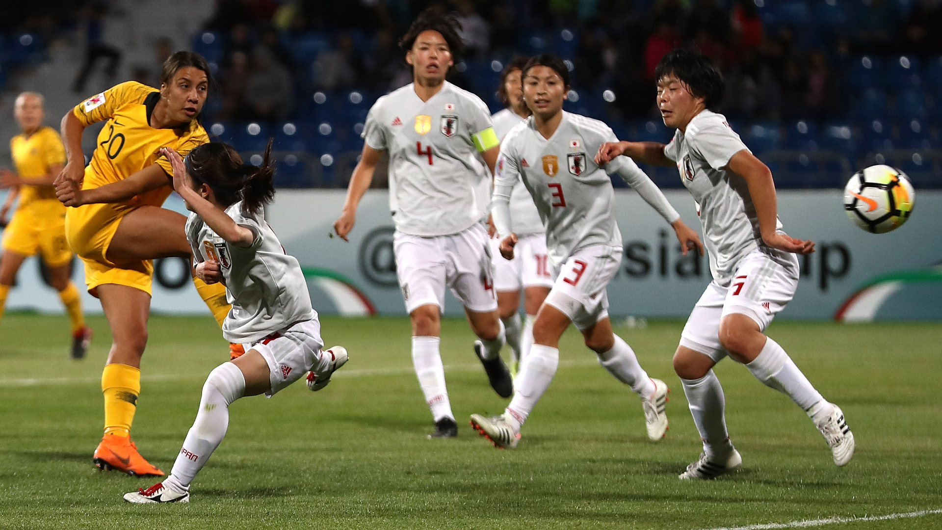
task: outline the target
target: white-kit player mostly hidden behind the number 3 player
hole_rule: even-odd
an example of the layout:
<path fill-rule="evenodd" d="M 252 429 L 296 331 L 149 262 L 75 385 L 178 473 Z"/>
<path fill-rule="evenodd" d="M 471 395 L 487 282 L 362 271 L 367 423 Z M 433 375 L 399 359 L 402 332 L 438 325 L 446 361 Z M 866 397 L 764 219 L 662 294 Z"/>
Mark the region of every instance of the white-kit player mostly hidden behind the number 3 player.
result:
<path fill-rule="evenodd" d="M 516 124 L 522 124 L 530 115 L 524 102 L 520 75 L 528 58 L 514 58 L 500 75 L 497 95 L 505 108 L 499 110 L 491 120 L 497 139 L 504 141 L 507 133 Z M 494 259 L 494 289 L 497 291 L 497 311 L 507 330 L 507 344 L 511 347 L 511 373 L 516 375 L 521 359 L 533 344 L 533 321 L 543 304 L 546 294 L 553 287 L 553 276 L 549 272 L 546 257 L 546 232 L 540 212 L 533 204 L 529 191 L 518 181 L 511 192 L 511 227 L 517 235 L 517 246 L 513 258 L 500 257 L 500 239 L 496 232 L 491 236 L 491 255 Z M 521 330 L 520 291 L 524 292 L 526 323 Z"/>

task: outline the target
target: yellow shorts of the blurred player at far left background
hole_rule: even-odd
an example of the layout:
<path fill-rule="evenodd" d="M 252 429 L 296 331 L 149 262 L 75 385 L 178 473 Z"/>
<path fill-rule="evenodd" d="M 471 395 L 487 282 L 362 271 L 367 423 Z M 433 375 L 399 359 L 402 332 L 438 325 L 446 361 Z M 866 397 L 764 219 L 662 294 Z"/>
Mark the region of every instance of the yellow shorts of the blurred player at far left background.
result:
<path fill-rule="evenodd" d="M 3 248 L 24 256 L 41 254 L 49 267 L 68 264 L 72 251 L 65 239 L 65 207 L 43 200 L 17 208 L 4 229 Z"/>

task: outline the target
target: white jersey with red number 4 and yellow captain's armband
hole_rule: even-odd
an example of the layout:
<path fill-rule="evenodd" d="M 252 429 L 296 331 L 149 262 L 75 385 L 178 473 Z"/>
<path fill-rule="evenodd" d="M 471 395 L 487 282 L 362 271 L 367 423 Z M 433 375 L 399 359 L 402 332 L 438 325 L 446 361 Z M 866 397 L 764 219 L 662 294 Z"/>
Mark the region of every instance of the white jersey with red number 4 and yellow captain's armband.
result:
<path fill-rule="evenodd" d="M 363 138 L 389 152 L 389 207 L 399 232 L 447 236 L 486 215 L 491 179 L 477 153 L 498 141 L 475 94 L 446 81 L 423 102 L 410 83 L 369 109 Z"/>

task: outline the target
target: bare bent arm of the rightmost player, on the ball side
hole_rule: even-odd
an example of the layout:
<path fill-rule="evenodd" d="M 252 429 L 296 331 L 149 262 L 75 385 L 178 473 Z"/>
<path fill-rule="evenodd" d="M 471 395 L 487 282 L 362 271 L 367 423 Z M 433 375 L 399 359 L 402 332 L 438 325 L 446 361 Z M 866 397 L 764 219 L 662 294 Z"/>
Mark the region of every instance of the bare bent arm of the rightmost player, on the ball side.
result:
<path fill-rule="evenodd" d="M 769 167 L 749 151 L 743 149 L 729 159 L 729 169 L 745 179 L 749 195 L 753 199 L 755 215 L 759 221 L 762 240 L 771 248 L 777 248 L 795 254 L 811 254 L 815 243 L 811 240 L 796 240 L 786 234 L 776 232 L 778 203 L 775 196 L 775 182 L 771 178 Z"/>

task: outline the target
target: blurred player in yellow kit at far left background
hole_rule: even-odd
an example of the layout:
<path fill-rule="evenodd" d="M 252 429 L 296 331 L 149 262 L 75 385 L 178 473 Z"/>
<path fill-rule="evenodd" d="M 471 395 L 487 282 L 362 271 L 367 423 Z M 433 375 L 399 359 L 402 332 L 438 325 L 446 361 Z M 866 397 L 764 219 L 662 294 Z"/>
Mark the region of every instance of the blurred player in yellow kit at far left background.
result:
<path fill-rule="evenodd" d="M 65 148 L 56 129 L 42 124 L 46 114 L 41 94 L 21 93 L 13 112 L 20 124 L 20 134 L 9 141 L 16 173 L 0 170 L 0 186 L 10 188 L 0 220 L 6 221 L 17 196 L 20 204 L 3 234 L 0 317 L 23 260 L 39 254 L 49 270 L 49 281 L 58 291 L 72 322 L 72 357 L 80 359 L 89 349 L 91 328 L 85 325 L 81 296 L 70 279 L 72 251 L 65 240 L 66 208 L 58 202 L 53 187 L 53 181 L 65 165 Z"/>

